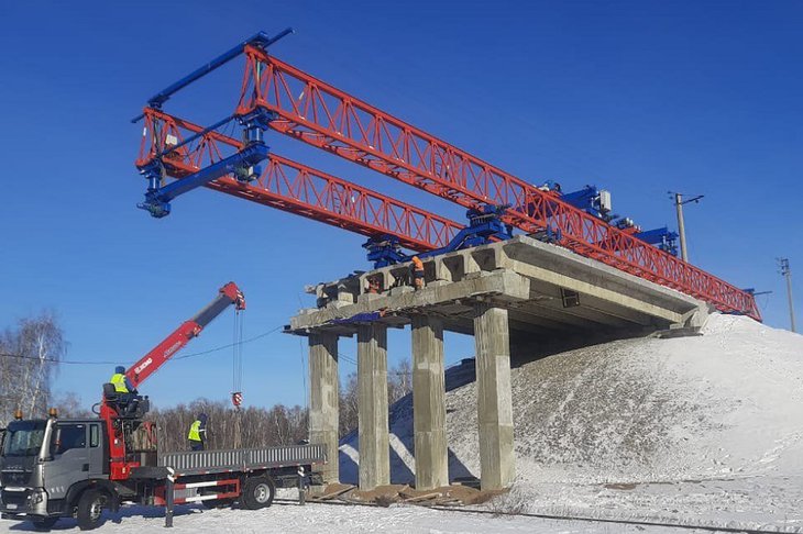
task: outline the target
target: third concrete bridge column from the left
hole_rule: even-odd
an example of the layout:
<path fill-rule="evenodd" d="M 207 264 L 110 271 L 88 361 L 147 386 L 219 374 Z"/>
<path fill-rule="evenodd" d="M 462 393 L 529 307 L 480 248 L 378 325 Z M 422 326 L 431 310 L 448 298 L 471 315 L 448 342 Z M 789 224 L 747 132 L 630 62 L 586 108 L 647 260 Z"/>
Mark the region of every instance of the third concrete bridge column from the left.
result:
<path fill-rule="evenodd" d="M 416 489 L 449 485 L 443 325 L 427 315 L 413 318 L 413 427 Z"/>

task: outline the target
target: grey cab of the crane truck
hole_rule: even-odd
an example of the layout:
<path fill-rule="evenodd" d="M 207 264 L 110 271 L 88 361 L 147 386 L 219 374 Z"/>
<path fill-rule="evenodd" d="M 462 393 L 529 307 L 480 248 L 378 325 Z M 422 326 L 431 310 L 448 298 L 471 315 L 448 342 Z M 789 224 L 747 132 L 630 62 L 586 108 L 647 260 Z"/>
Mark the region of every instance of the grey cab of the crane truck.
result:
<path fill-rule="evenodd" d="M 103 433 L 98 419 L 10 422 L 0 449 L 2 516 L 50 526 L 74 515 L 86 489 L 110 483 Z"/>

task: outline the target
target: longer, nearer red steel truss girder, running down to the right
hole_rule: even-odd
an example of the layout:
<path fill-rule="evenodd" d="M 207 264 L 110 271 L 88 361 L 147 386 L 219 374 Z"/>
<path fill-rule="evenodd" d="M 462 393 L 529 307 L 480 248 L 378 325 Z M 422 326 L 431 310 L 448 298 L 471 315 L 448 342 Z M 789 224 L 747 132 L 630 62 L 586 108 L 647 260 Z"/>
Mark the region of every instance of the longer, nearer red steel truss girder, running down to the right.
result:
<path fill-rule="evenodd" d="M 724 312 L 761 314 L 752 294 L 562 202 L 537 187 L 248 46 L 238 113 L 274 111 L 271 127 L 466 208 L 509 204 L 505 222 L 551 226 L 562 245 L 678 289 Z"/>

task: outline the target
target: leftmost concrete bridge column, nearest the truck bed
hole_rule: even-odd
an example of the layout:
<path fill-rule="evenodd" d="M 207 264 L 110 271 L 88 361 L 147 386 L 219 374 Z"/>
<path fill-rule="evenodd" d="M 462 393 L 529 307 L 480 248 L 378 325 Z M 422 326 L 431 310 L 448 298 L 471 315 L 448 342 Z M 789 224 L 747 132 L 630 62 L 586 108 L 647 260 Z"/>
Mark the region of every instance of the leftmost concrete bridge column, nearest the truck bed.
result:
<path fill-rule="evenodd" d="M 326 482 L 338 482 L 340 388 L 336 334 L 309 336 L 309 443 L 327 446 L 327 464 L 320 472 Z"/>

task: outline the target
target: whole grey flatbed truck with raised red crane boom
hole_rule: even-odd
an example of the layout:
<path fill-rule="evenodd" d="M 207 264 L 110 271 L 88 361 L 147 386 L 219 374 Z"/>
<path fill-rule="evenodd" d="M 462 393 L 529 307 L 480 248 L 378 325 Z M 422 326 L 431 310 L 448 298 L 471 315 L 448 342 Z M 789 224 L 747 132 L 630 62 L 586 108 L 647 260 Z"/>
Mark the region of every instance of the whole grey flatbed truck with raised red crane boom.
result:
<path fill-rule="evenodd" d="M 127 371 L 139 387 L 223 310 L 245 309 L 234 282 L 185 321 Z M 156 427 L 145 419 L 148 397 L 131 392 L 124 399 L 112 383 L 103 385 L 98 418 L 22 419 L 8 424 L 0 448 L 0 512 L 3 519 L 50 529 L 59 518 L 75 518 L 81 530 L 101 522 L 103 509 L 124 503 L 166 505 L 202 502 L 208 507 L 238 502 L 260 509 L 273 502 L 276 487 L 295 487 L 299 476 L 326 461 L 322 445 L 162 453 Z"/>

